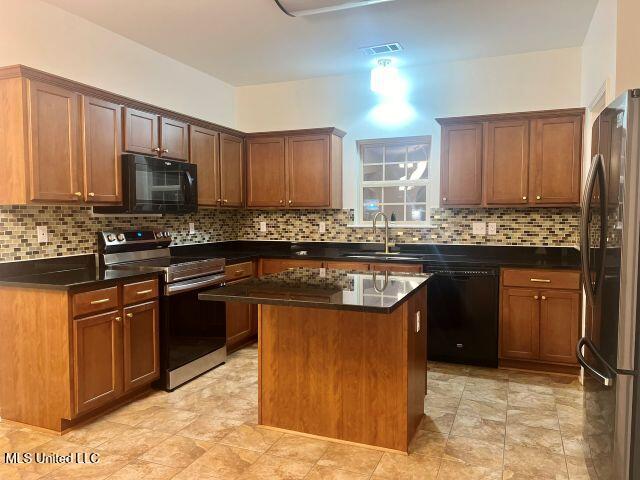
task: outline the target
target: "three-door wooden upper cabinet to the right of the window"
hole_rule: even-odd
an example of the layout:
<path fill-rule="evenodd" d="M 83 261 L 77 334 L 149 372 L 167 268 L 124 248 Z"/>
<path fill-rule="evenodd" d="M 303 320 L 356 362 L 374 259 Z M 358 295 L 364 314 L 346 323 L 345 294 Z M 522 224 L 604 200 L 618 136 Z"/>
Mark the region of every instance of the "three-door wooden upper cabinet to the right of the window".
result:
<path fill-rule="evenodd" d="M 442 206 L 580 201 L 583 109 L 440 118 Z"/>

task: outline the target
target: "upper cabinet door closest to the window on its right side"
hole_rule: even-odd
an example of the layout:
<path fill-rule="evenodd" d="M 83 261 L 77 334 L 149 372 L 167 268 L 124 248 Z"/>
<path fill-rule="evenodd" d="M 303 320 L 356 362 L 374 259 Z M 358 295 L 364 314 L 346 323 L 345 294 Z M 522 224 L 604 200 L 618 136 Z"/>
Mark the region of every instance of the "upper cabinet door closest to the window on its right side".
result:
<path fill-rule="evenodd" d="M 442 128 L 440 204 L 482 203 L 482 124 L 447 125 Z"/>

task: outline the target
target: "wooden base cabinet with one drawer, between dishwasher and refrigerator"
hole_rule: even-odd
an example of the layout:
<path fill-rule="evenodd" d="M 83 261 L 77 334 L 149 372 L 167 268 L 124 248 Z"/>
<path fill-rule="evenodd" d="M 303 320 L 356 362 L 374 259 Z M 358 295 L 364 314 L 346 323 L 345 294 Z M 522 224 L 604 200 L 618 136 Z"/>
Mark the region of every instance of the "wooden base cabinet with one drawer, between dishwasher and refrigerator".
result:
<path fill-rule="evenodd" d="M 503 269 L 500 297 L 502 366 L 577 370 L 579 272 Z"/>

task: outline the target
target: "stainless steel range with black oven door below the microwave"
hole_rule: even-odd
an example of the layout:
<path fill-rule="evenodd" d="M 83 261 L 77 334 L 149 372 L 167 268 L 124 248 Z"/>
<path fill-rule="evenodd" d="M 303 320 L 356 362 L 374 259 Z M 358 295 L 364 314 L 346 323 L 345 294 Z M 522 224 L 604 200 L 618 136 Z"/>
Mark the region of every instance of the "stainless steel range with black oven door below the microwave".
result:
<path fill-rule="evenodd" d="M 225 305 L 198 293 L 224 284 L 224 258 L 171 255 L 168 232 L 131 230 L 98 234 L 107 268 L 161 273 L 161 383 L 174 390 L 226 360 Z"/>

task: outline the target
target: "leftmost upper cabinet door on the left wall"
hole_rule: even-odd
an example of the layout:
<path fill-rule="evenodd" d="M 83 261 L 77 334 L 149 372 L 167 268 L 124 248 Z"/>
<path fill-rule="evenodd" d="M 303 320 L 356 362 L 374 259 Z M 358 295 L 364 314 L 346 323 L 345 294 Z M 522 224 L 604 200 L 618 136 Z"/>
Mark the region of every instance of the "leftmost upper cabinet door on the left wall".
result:
<path fill-rule="evenodd" d="M 80 96 L 28 81 L 30 199 L 82 200 Z"/>

